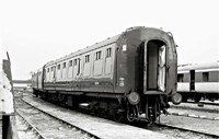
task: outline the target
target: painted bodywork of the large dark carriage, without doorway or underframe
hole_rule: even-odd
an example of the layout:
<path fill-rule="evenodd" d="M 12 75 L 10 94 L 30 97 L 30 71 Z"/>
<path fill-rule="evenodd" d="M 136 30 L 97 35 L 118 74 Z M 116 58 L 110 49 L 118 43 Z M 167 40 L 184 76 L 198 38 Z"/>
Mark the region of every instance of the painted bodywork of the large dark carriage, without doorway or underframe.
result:
<path fill-rule="evenodd" d="M 140 47 L 141 45 L 147 46 L 148 42 L 154 39 L 164 42 L 166 45 L 165 91 L 161 93 L 174 94 L 176 92 L 177 65 L 174 40 L 170 34 L 161 30 L 146 27 L 129 28 L 104 42 L 46 63 L 44 70 L 37 71 L 37 78 L 33 77 L 33 88 L 45 91 L 72 91 L 72 93 L 73 91 L 150 93 L 147 92 L 146 84 L 147 67 L 142 66 L 147 55 L 141 54 L 145 48 Z M 108 59 L 106 58 L 107 48 L 112 48 L 112 56 Z M 95 53 L 100 50 L 103 51 L 101 59 L 95 60 Z M 90 55 L 89 66 L 85 63 L 87 55 Z M 73 65 L 74 59 L 80 59 L 78 60 L 80 66 Z M 66 68 L 64 68 L 64 62 Z M 59 65 L 60 68 L 58 68 Z M 51 70 L 51 67 L 55 68 Z M 47 72 L 48 70 L 49 72 Z M 38 82 L 37 85 L 36 82 Z"/>

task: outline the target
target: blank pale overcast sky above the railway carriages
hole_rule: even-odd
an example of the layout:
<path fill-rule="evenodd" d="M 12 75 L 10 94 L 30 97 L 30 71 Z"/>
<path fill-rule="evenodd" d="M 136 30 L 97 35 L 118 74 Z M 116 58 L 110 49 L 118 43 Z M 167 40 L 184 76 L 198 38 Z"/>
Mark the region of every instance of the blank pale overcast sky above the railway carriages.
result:
<path fill-rule="evenodd" d="M 219 60 L 217 0 L 7 0 L 0 9 L 13 79 L 131 26 L 172 32 L 181 65 Z"/>

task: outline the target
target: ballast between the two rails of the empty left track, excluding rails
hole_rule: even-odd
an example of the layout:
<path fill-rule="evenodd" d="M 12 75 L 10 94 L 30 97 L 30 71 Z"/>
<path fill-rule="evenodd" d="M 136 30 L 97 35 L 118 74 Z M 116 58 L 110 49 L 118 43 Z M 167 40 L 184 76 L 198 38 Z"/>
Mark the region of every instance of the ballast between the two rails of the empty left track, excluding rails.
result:
<path fill-rule="evenodd" d="M 91 139 L 90 136 L 87 134 L 82 134 L 76 128 L 69 127 L 66 124 L 60 123 L 59 120 L 28 106 L 27 104 L 16 101 L 16 111 L 25 116 L 25 118 L 34 125 L 35 128 L 37 128 L 42 135 L 46 138 L 57 138 L 57 139 Z M 20 123 L 21 120 L 18 120 L 18 126 L 22 126 L 23 123 Z M 23 137 L 26 137 L 30 135 L 30 131 L 20 132 Z M 33 136 L 33 135 L 31 135 Z M 27 138 L 26 138 L 27 139 Z"/>

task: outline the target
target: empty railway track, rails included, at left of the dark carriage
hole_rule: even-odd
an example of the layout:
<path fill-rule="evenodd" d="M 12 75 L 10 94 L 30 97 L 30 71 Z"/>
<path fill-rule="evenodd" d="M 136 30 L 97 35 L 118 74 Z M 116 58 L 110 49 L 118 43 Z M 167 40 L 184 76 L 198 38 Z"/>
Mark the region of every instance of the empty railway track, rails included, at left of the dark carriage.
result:
<path fill-rule="evenodd" d="M 28 132 L 27 138 L 41 138 L 41 139 L 47 139 L 47 138 L 97 139 L 99 138 L 95 135 L 84 131 L 72 124 L 66 123 L 65 120 L 61 120 L 60 118 L 57 118 L 53 115 L 44 113 L 37 107 L 34 107 L 33 105 L 22 102 L 22 100 L 16 104 L 19 104 L 19 107 L 20 107 L 20 108 L 16 108 L 16 112 L 19 114 L 18 118 L 22 118 L 23 123 L 25 123 L 25 124 L 20 123 L 19 125 L 27 124 L 27 128 L 25 130 L 25 132 Z M 26 135 L 23 135 L 22 139 Z"/>

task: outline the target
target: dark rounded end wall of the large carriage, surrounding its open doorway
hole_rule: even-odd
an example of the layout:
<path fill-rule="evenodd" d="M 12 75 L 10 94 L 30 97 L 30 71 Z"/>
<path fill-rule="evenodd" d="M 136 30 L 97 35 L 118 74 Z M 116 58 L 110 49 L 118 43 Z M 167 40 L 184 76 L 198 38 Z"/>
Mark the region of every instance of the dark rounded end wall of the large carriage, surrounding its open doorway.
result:
<path fill-rule="evenodd" d="M 117 92 L 130 92 L 143 90 L 143 80 L 142 79 L 143 71 L 146 71 L 147 67 L 141 67 L 141 62 L 143 62 L 142 55 L 139 51 L 142 51 L 139 46 L 145 43 L 147 44 L 149 40 L 160 39 L 166 44 L 166 94 L 176 92 L 176 65 L 177 57 L 175 50 L 175 44 L 173 38 L 163 31 L 155 28 L 145 28 L 139 27 L 132 30 L 128 33 L 124 34 L 123 39 L 120 40 L 120 45 L 126 45 L 127 50 L 122 50 L 122 48 L 117 53 Z M 142 44 L 143 45 L 143 44 Z M 145 55 L 147 56 L 147 55 Z M 141 59 L 141 60 L 140 60 Z M 125 85 L 119 86 L 119 78 L 124 78 Z M 147 90 L 143 91 L 147 93 Z"/>

